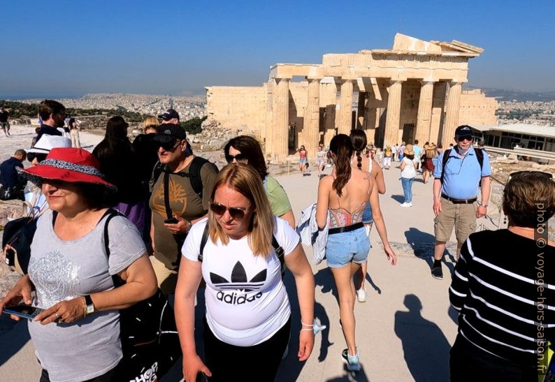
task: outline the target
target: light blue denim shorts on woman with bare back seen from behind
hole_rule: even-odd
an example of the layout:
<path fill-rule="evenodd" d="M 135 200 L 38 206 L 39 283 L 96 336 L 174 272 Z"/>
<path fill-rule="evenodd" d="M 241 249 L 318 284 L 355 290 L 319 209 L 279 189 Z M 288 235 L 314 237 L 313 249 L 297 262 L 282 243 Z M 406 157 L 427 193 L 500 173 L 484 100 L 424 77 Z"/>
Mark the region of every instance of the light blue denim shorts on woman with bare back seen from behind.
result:
<path fill-rule="evenodd" d="M 340 268 L 349 263 L 364 263 L 370 251 L 370 238 L 364 228 L 328 236 L 326 262 L 328 267 Z"/>

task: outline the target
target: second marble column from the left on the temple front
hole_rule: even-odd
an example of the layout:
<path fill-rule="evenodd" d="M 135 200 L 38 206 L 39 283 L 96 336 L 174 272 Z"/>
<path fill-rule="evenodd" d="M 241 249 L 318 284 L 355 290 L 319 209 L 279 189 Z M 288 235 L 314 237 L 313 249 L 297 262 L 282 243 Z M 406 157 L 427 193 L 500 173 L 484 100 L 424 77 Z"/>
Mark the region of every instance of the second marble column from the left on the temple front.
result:
<path fill-rule="evenodd" d="M 308 156 L 314 158 L 319 141 L 319 122 L 320 122 L 320 80 L 317 78 L 308 79 L 308 100 L 303 119 L 303 142 L 308 151 Z"/>

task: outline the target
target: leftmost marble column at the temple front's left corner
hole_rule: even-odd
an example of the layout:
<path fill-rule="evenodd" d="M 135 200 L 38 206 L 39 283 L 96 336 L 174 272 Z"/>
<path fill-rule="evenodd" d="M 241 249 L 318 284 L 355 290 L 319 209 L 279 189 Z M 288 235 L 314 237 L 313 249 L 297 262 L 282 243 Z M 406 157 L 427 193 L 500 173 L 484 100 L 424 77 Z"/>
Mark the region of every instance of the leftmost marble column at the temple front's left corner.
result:
<path fill-rule="evenodd" d="M 289 78 L 276 78 L 274 88 L 275 110 L 273 112 L 273 159 L 284 161 L 289 154 Z"/>

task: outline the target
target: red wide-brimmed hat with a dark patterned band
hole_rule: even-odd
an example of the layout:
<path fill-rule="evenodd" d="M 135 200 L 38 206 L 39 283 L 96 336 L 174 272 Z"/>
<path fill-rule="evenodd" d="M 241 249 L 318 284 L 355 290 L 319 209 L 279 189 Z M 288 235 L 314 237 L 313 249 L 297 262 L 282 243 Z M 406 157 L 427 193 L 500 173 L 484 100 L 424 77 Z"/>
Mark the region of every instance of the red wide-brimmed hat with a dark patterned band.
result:
<path fill-rule="evenodd" d="M 116 188 L 103 179 L 99 160 L 87 150 L 75 147 L 52 149 L 46 159 L 38 165 L 17 170 L 21 177 L 35 184 L 42 184 L 43 179 L 56 179 L 62 182 L 95 183 L 109 189 Z"/>

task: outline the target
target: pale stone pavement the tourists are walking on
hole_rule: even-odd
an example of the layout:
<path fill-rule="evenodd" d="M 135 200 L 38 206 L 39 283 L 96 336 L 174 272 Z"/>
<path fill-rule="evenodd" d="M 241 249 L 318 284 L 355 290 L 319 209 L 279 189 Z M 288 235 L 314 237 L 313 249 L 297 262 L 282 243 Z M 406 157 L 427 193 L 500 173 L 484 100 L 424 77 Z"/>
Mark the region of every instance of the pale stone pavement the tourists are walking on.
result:
<path fill-rule="evenodd" d="M 432 184 L 423 184 L 417 179 L 413 186 L 414 207 L 403 208 L 399 206 L 403 201 L 400 171 L 391 168 L 384 172 L 387 192 L 380 196 L 380 205 L 398 264 L 393 267 L 387 263 L 373 228 L 370 235 L 373 249 L 368 256 L 368 299 L 364 303 L 356 302 L 355 308 L 361 372 L 349 374 L 340 359 L 346 346 L 339 326 L 337 293 L 331 273 L 322 263 L 313 267 L 317 284 L 316 317 L 328 328 L 316 336 L 315 349 L 303 363 L 296 357 L 300 318 L 294 281 L 291 274 L 285 279 L 294 314 L 289 355 L 282 362 L 278 381 L 449 380 L 449 348 L 456 337 L 456 314 L 449 307 L 448 270 L 454 264 L 446 256 L 445 278 L 439 281 L 431 277 Z M 307 177 L 295 173 L 278 180 L 287 191 L 298 219 L 301 210 L 316 200 L 317 172 Z M 310 250 L 305 248 L 308 255 Z M 454 255 L 453 244 L 448 250 Z M 40 369 L 28 339 L 25 323 L 17 323 L 1 335 L 0 381 L 38 380 Z M 248 365 L 249 360 L 245 360 L 241 367 L 248 369 Z M 179 369 L 174 367 L 163 382 L 179 381 Z"/>

